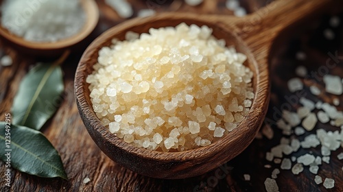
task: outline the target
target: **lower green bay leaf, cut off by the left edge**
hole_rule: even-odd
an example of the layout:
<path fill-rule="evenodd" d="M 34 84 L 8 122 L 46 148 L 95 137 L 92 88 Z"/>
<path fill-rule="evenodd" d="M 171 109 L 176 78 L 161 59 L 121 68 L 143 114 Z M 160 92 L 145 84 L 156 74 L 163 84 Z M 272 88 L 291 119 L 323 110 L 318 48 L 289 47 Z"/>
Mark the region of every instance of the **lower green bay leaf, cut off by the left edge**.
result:
<path fill-rule="evenodd" d="M 60 155 L 41 132 L 13 124 L 7 131 L 6 125 L 5 122 L 0 122 L 0 151 L 3 162 L 8 161 L 5 155 L 10 153 L 10 165 L 19 171 L 43 178 L 68 179 Z M 7 147 L 6 139 L 10 139 L 10 147 Z"/>

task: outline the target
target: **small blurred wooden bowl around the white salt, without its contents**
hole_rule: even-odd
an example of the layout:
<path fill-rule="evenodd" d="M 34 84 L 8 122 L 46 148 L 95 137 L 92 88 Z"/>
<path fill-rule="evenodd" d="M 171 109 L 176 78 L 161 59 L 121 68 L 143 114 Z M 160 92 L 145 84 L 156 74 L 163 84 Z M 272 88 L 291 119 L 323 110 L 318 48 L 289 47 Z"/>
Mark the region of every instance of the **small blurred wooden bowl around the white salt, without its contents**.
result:
<path fill-rule="evenodd" d="M 0 5 L 2 2 L 3 1 L 1 0 Z M 99 20 L 99 9 L 97 8 L 97 3 L 93 0 L 82 0 L 80 2 L 84 8 L 86 20 L 84 27 L 78 34 L 54 43 L 35 43 L 11 34 L 8 29 L 5 29 L 0 25 L 1 39 L 6 45 L 10 45 L 11 47 L 14 47 L 14 49 L 23 51 L 23 53 L 29 53 L 34 56 L 58 56 L 66 49 L 71 49 L 74 45 L 84 40 L 84 38 L 93 32 L 93 29 L 95 29 L 97 25 L 97 21 Z"/>

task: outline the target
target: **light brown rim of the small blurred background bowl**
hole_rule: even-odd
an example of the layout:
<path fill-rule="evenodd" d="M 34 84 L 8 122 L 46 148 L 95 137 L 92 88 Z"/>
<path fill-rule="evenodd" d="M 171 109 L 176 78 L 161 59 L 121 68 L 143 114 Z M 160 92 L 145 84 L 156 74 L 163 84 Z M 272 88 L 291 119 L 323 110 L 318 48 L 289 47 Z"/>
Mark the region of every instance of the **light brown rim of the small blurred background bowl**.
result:
<path fill-rule="evenodd" d="M 5 29 L 2 25 L 0 25 L 0 36 L 3 36 L 3 38 L 10 40 L 10 42 L 16 45 L 26 47 L 28 49 L 52 50 L 75 45 L 91 34 L 99 21 L 99 9 L 97 8 L 97 3 L 93 0 L 80 0 L 80 2 L 84 9 L 84 13 L 86 14 L 86 19 L 84 20 L 85 23 L 82 29 L 80 29 L 80 32 L 70 36 L 69 38 L 64 38 L 52 43 L 31 42 L 10 33 L 8 29 Z"/>

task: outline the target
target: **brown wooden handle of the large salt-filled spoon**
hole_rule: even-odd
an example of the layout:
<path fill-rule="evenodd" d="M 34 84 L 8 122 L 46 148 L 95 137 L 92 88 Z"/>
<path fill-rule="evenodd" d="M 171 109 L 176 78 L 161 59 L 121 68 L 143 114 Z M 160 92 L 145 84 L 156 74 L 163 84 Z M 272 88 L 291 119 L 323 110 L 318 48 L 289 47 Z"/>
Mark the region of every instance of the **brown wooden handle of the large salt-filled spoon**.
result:
<path fill-rule="evenodd" d="M 235 23 L 237 36 L 248 45 L 270 45 L 286 27 L 314 14 L 334 0 L 279 0 Z"/>

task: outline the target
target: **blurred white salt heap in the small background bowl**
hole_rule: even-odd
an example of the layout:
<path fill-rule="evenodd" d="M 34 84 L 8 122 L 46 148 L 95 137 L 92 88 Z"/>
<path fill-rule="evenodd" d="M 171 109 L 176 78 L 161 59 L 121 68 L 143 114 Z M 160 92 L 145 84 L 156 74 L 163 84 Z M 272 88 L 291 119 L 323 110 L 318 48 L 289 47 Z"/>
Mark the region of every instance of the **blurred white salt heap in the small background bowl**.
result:
<path fill-rule="evenodd" d="M 56 42 L 82 29 L 86 14 L 75 0 L 6 0 L 1 6 L 1 25 L 12 34 L 33 42 Z"/>

